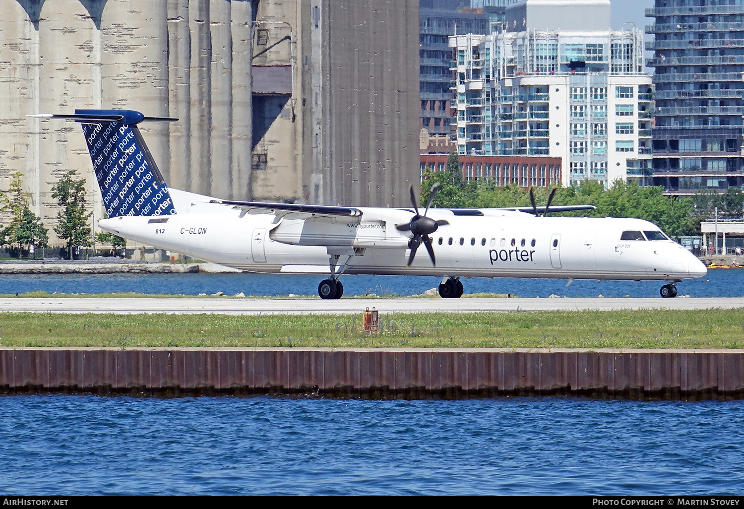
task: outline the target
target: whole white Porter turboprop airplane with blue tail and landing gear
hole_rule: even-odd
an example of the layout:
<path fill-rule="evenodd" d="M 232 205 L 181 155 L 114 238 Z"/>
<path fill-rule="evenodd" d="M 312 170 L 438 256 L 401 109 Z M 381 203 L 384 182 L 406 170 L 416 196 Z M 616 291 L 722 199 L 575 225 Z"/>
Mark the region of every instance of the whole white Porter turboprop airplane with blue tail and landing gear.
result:
<path fill-rule="evenodd" d="M 638 219 L 546 217 L 592 205 L 447 209 L 238 202 L 168 188 L 137 124 L 176 121 L 131 110 L 77 109 L 109 219 L 105 231 L 248 272 L 327 274 L 321 298 L 340 298 L 343 274 L 427 275 L 458 298 L 461 278 L 658 280 L 662 297 L 707 272 L 658 226 Z M 555 190 L 554 190 L 555 191 Z M 423 243 L 429 257 L 416 257 Z M 436 256 L 435 256 L 436 254 Z"/>

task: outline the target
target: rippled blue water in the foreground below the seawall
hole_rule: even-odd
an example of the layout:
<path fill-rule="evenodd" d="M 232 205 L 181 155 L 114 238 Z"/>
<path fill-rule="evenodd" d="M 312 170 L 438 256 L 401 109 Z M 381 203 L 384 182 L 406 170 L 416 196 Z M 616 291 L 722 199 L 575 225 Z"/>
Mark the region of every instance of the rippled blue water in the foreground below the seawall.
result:
<path fill-rule="evenodd" d="M 0 492 L 735 494 L 744 402 L 0 398 Z"/>

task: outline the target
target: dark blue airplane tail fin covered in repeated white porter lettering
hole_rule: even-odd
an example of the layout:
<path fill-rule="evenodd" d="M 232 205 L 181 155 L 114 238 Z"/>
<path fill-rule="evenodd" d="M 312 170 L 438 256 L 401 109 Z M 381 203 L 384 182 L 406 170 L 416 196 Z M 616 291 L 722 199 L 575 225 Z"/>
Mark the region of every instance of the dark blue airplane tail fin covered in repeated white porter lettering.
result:
<path fill-rule="evenodd" d="M 83 124 L 109 217 L 176 214 L 163 176 L 137 128 L 142 121 L 176 118 L 150 118 L 126 109 L 76 109 L 74 115 L 33 116 L 72 118 Z"/>

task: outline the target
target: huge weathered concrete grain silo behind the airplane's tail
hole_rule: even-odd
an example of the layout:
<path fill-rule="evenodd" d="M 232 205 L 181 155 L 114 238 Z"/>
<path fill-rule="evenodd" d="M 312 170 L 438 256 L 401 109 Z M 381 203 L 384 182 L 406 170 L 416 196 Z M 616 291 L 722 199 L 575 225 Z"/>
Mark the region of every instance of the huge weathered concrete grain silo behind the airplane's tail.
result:
<path fill-rule="evenodd" d="M 25 116 L 76 108 L 179 118 L 140 126 L 174 188 L 408 205 L 417 0 L 0 0 L 0 13 L 0 189 L 22 171 L 48 227 L 68 170 L 104 213 L 80 127 Z"/>

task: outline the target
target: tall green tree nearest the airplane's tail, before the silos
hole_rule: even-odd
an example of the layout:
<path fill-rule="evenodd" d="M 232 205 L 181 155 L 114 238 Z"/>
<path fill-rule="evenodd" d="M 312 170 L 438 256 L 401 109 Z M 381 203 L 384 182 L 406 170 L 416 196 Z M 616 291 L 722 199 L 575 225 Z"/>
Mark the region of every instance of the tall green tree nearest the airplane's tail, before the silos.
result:
<path fill-rule="evenodd" d="M 57 226 L 54 232 L 65 240 L 72 260 L 72 250 L 77 246 L 90 246 L 92 230 L 89 217 L 93 212 L 87 212 L 86 179 L 77 179 L 75 170 L 68 171 L 52 187 L 53 198 L 57 198 L 60 211 L 57 213 Z"/>

